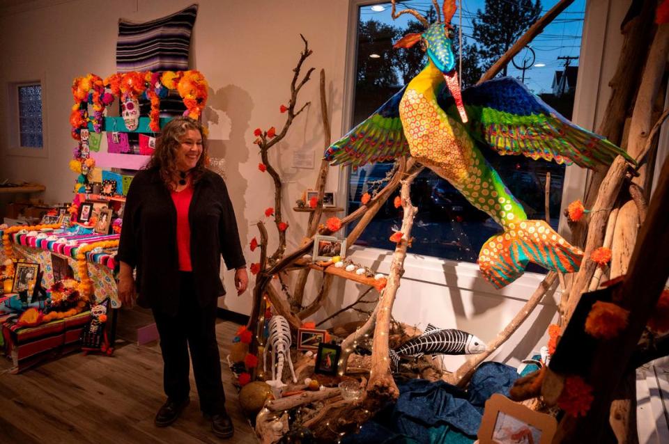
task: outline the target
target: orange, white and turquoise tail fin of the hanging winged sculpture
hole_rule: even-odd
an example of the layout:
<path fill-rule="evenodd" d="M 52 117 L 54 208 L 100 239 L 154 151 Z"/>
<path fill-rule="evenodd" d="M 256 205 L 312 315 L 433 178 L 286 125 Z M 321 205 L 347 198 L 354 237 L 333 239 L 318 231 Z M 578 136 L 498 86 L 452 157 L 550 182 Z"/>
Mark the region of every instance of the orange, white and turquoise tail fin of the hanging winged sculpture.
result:
<path fill-rule="evenodd" d="M 546 221 L 523 221 L 488 239 L 479 253 L 485 278 L 501 288 L 519 278 L 528 262 L 549 270 L 578 271 L 583 251 L 558 235 Z"/>

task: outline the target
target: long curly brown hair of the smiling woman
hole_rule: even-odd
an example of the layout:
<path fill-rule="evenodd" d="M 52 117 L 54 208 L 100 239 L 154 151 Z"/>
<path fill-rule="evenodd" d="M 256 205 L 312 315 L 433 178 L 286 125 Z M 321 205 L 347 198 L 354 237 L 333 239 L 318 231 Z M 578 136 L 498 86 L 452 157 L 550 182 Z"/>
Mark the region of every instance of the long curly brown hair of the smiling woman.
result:
<path fill-rule="evenodd" d="M 176 166 L 177 153 L 180 150 L 181 138 L 190 130 L 197 129 L 202 136 L 202 155 L 192 170 L 190 177 L 193 183 L 197 183 L 206 171 L 207 138 L 206 131 L 198 120 L 190 117 L 175 117 L 162 128 L 160 135 L 155 141 L 155 151 L 146 165 L 148 170 L 158 170 L 160 177 L 168 189 L 174 189 L 174 184 L 180 177 Z"/>

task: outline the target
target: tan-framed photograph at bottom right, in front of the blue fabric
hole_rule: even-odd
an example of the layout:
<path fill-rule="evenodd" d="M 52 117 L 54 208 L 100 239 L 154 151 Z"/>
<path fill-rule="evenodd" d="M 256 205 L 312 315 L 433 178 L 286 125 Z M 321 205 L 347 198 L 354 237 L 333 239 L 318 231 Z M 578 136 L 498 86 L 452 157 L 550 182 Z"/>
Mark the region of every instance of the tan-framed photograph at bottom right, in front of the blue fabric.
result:
<path fill-rule="evenodd" d="M 478 438 L 480 444 L 549 444 L 556 429 L 553 416 L 530 410 L 495 393 L 486 401 Z"/>

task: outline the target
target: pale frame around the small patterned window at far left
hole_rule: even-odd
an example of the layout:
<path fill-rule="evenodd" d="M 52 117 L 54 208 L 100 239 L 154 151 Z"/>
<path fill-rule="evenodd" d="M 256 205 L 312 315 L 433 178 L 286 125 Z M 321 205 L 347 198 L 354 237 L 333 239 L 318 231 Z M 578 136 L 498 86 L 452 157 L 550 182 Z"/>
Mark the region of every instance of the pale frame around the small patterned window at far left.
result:
<path fill-rule="evenodd" d="M 19 92 L 21 86 L 39 84 L 42 90 L 42 147 L 25 147 L 21 145 L 21 127 L 19 117 Z M 49 143 L 47 138 L 47 100 L 45 75 L 33 77 L 29 80 L 15 80 L 7 82 L 7 150 L 6 154 L 16 157 L 49 157 Z"/>

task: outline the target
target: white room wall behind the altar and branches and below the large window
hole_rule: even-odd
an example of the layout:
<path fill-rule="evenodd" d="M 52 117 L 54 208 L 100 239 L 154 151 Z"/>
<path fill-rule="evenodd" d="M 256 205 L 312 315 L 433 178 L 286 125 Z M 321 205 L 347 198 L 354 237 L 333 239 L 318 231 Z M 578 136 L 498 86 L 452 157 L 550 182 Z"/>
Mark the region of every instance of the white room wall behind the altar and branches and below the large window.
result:
<path fill-rule="evenodd" d="M 191 1 L 122 0 L 115 1 L 113 7 L 109 6 L 111 2 L 83 0 L 17 3 L 0 11 L 0 29 L 3 29 L 0 35 L 3 48 L 0 119 L 6 122 L 5 85 L 8 81 L 43 78 L 48 157 L 8 156 L 6 137 L 0 138 L 3 150 L 0 177 L 42 182 L 47 187 L 45 200 L 68 200 L 75 179 L 67 166 L 75 146 L 68 123 L 72 79 L 87 72 L 102 77 L 114 72 L 118 17 L 142 22 L 173 13 Z M 620 20 L 628 3 L 627 0 L 593 0 L 587 4 L 579 101 L 575 111 L 575 120 L 583 127 L 592 129 L 603 117 L 609 94 L 607 82 L 615 69 L 622 41 Z M 212 88 L 204 113 L 210 126 L 211 154 L 226 159 L 227 184 L 250 263 L 258 260 L 259 255 L 258 251 L 251 253 L 248 249 L 248 242 L 257 234 L 252 224 L 264 219 L 264 209 L 273 206 L 270 177 L 257 169 L 259 153 L 252 144 L 253 129 L 282 125 L 285 116 L 279 113 L 279 104 L 289 99 L 292 69 L 302 50 L 299 33 L 304 34 L 314 50 L 305 68 L 314 66 L 317 70 L 312 81 L 303 88 L 300 102 L 310 100 L 312 106 L 295 120 L 284 142 L 272 148 L 272 162 L 286 181 L 284 214 L 291 225 L 290 244 L 295 246 L 305 232 L 307 216 L 294 213 L 291 208 L 302 190 L 313 186 L 316 170 L 291 168 L 290 154 L 295 148 L 313 150 L 318 165 L 323 149 L 318 104 L 320 68 L 325 69 L 328 77 L 333 137 L 344 131 L 341 116 L 348 106 L 343 99 L 347 78 L 348 1 L 201 0 L 199 4 L 192 42 L 193 68 L 203 72 Z M 340 183 L 340 174 L 338 168 L 330 172 L 332 187 Z M 578 197 L 583 191 L 582 182 L 578 171 L 573 174 L 569 196 Z M 269 228 L 272 233 L 272 227 Z M 276 236 L 270 237 L 276 239 Z M 270 249 L 273 245 L 270 244 Z M 386 273 L 389 256 L 374 248 L 353 251 L 355 260 Z M 318 282 L 320 278 L 313 280 Z M 514 317 L 540 280 L 541 276 L 528 273 L 514 285 L 497 291 L 481 278 L 475 264 L 409 255 L 393 315 L 403 322 L 423 327 L 432 322 L 444 328 L 461 328 L 488 341 Z M 231 281 L 231 274 L 226 273 L 228 287 L 232 287 Z M 353 301 L 362 290 L 358 287 L 339 283 L 325 310 L 318 312 L 314 319 L 322 319 L 326 311 L 332 312 Z M 307 298 L 314 294 L 312 285 Z M 521 326 L 500 349 L 497 360 L 517 364 L 536 349 L 537 344 L 545 343 L 546 338 L 542 336 L 555 315 L 556 299 L 555 295 L 544 299 L 530 315 L 530 322 Z M 240 298 L 231 294 L 222 306 L 248 313 L 250 294 L 247 292 Z M 461 360 L 460 357 L 449 358 L 447 363 L 453 367 Z"/>

